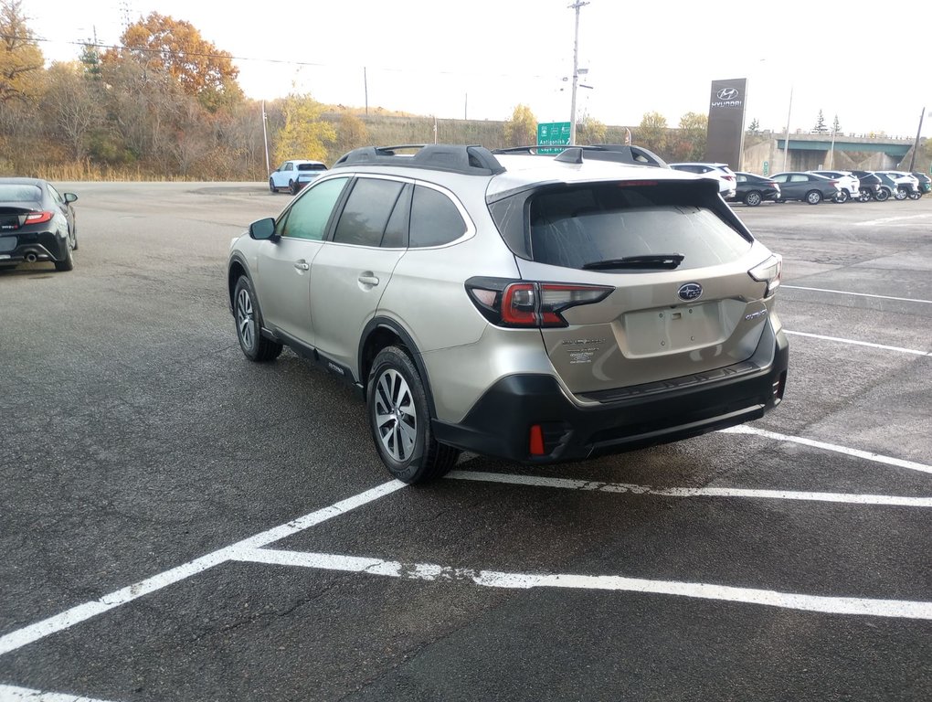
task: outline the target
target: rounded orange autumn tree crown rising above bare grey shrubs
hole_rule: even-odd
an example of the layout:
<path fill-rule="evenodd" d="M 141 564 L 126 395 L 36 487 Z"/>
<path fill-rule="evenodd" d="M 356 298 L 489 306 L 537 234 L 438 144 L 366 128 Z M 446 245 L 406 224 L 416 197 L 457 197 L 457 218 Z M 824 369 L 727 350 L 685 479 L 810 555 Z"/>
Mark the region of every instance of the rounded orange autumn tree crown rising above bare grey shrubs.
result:
<path fill-rule="evenodd" d="M 233 57 L 200 35 L 190 22 L 152 12 L 120 36 L 125 51 L 174 78 L 188 95 L 211 111 L 239 102 L 240 69 Z M 104 55 L 113 60 L 111 52 Z"/>

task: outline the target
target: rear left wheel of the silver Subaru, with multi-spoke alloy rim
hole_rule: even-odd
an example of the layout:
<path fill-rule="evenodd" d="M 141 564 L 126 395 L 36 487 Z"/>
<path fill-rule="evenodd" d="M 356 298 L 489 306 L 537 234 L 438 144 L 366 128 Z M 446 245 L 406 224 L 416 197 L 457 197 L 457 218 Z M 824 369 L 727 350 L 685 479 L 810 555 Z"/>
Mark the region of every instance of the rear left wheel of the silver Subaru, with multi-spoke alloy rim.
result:
<path fill-rule="evenodd" d="M 366 412 L 378 457 L 402 482 L 441 477 L 456 463 L 459 450 L 433 438 L 424 383 L 403 349 L 378 352 L 369 373 Z"/>

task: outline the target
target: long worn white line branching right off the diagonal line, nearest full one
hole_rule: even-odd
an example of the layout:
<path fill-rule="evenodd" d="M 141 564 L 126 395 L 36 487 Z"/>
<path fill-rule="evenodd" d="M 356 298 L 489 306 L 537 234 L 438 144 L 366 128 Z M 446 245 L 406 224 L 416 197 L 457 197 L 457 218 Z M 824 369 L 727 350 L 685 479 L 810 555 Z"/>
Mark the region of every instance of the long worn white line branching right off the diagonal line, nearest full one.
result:
<path fill-rule="evenodd" d="M 932 619 L 932 602 L 906 599 L 867 599 L 800 595 L 797 593 L 761 590 L 752 587 L 710 585 L 670 580 L 648 580 L 622 575 L 581 575 L 577 573 L 532 573 L 477 571 L 436 563 L 403 563 L 396 560 L 340 556 L 336 554 L 303 553 L 267 548 L 243 549 L 237 560 L 269 565 L 314 568 L 327 571 L 359 572 L 408 580 L 432 582 L 472 582 L 483 587 L 529 589 L 558 587 L 578 590 L 609 590 L 648 595 L 675 595 L 694 599 L 717 599 L 726 602 L 780 607 L 803 612 L 854 614 L 858 616 Z"/>

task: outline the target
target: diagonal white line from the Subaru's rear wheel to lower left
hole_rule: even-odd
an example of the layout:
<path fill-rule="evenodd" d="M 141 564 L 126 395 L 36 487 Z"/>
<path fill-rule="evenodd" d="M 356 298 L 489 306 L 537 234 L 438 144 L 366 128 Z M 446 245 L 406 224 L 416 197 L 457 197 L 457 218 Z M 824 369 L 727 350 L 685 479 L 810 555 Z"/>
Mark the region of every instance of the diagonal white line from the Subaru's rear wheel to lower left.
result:
<path fill-rule="evenodd" d="M 102 614 L 109 610 L 119 607 L 121 604 L 126 604 L 131 602 L 133 599 L 139 599 L 144 595 L 160 590 L 163 587 L 172 585 L 185 578 L 189 578 L 192 575 L 196 575 L 199 572 L 206 571 L 209 568 L 213 568 L 216 565 L 225 563 L 235 556 L 237 551 L 240 548 L 258 548 L 260 546 L 265 546 L 267 544 L 272 544 L 273 542 L 279 541 L 286 536 L 291 536 L 292 534 L 297 533 L 301 530 L 306 530 L 309 527 L 313 527 L 316 524 L 320 524 L 322 521 L 331 519 L 335 516 L 344 515 L 349 510 L 360 507 L 363 504 L 368 502 L 373 502 L 378 500 L 381 497 L 390 495 L 397 489 L 404 488 L 404 483 L 399 480 L 391 480 L 388 483 L 383 483 L 377 488 L 368 489 L 365 492 L 361 492 L 358 495 L 350 497 L 347 500 L 341 502 L 336 502 L 329 507 L 324 507 L 323 509 L 312 512 L 309 515 L 299 517 L 293 521 L 288 522 L 287 524 L 282 524 L 278 527 L 274 527 L 270 530 L 263 531 L 262 533 L 251 536 L 248 539 L 244 539 L 237 544 L 231 546 L 226 546 L 221 548 L 213 553 L 207 554 L 206 556 L 201 556 L 195 558 L 192 561 L 184 563 L 183 565 L 172 568 L 169 571 L 164 571 L 158 573 L 158 575 L 153 575 L 151 578 L 146 578 L 141 580 L 138 583 L 134 583 L 129 587 L 123 587 L 115 592 L 111 592 L 108 595 L 104 595 L 100 599 L 95 599 L 90 602 L 85 602 L 84 604 L 79 604 L 76 607 L 72 607 L 69 610 L 65 610 L 62 613 L 56 614 L 55 616 L 48 617 L 48 619 L 43 619 L 41 622 L 36 622 L 30 626 L 24 626 L 21 629 L 12 631 L 6 636 L 0 638 L 0 655 L 8 654 L 10 651 L 15 651 L 22 646 L 25 646 L 27 643 L 32 643 L 34 641 L 44 639 L 49 634 L 54 634 L 59 631 L 63 631 L 75 624 L 80 622 L 87 621 L 93 616 Z"/>

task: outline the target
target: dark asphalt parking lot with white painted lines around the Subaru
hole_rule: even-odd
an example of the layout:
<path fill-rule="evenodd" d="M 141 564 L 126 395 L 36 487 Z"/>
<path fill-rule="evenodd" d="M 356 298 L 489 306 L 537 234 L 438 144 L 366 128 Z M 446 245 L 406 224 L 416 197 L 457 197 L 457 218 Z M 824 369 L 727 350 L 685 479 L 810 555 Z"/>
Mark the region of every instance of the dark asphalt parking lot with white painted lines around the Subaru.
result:
<path fill-rule="evenodd" d="M 678 444 L 391 481 L 363 406 L 240 352 L 261 184 L 69 184 L 0 271 L 0 700 L 932 698 L 932 198 L 735 206 L 784 403 Z"/>

